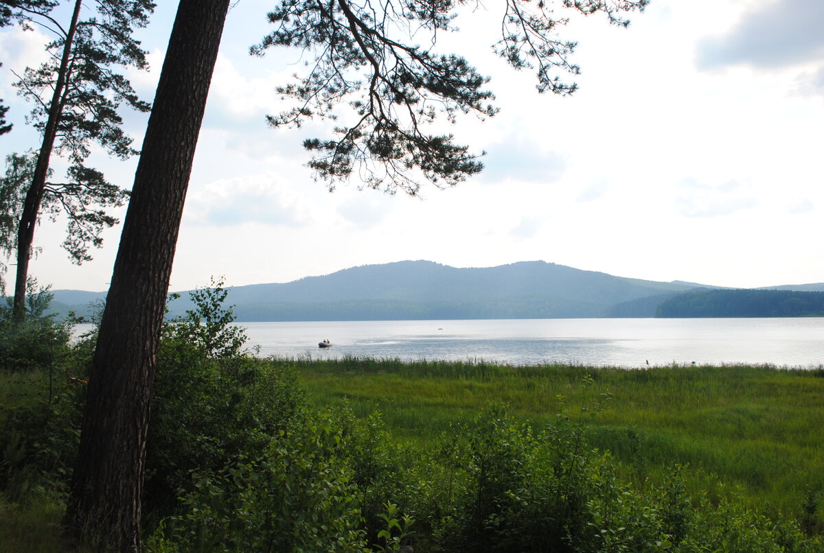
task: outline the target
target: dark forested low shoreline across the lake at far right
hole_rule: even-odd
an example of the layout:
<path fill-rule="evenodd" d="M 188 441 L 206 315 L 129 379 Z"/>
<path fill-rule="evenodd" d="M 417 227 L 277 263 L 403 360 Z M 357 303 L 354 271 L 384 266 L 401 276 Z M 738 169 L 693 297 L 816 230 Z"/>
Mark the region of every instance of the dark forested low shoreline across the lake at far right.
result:
<path fill-rule="evenodd" d="M 662 301 L 656 317 L 824 317 L 824 292 L 699 290 Z"/>

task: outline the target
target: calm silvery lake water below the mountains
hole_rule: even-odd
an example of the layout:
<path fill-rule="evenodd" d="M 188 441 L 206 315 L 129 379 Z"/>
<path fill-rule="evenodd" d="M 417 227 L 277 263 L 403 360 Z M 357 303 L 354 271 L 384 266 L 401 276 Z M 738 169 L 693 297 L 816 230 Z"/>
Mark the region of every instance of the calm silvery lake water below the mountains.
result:
<path fill-rule="evenodd" d="M 824 365 L 824 318 L 553 318 L 241 323 L 260 355 L 513 365 Z M 333 347 L 321 349 L 321 340 Z"/>

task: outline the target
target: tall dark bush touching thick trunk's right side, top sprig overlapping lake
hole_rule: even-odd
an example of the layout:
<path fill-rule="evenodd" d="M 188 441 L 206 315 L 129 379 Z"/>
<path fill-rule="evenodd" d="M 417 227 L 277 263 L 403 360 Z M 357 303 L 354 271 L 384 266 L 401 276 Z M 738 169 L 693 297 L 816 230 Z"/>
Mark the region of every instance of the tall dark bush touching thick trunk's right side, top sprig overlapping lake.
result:
<path fill-rule="evenodd" d="M 244 351 L 227 290 L 212 284 L 192 292 L 194 309 L 163 327 L 147 439 L 150 521 L 171 514 L 191 472 L 259 455 L 303 411 L 293 370 Z"/>

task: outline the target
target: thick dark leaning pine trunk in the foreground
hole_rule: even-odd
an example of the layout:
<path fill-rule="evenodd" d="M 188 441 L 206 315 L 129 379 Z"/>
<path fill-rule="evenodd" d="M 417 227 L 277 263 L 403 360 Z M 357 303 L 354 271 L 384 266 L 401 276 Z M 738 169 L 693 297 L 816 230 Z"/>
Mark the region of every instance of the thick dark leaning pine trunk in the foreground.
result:
<path fill-rule="evenodd" d="M 88 385 L 67 524 L 93 551 L 140 551 L 155 355 L 180 216 L 230 0 L 180 0 Z"/>

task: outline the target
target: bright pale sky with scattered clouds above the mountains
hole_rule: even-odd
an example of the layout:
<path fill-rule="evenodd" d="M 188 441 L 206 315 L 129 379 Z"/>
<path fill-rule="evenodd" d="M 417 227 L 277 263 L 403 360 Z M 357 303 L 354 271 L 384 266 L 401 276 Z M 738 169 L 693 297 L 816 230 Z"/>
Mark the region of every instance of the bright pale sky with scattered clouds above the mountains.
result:
<path fill-rule="evenodd" d="M 152 100 L 176 2 L 158 0 L 146 29 L 149 72 L 129 71 Z M 555 2 L 560 4 L 560 2 Z M 240 0 L 227 26 L 200 132 L 171 290 L 293 281 L 372 263 L 427 259 L 452 267 L 543 260 L 653 281 L 759 287 L 824 281 L 824 2 L 653 0 L 629 28 L 573 18 L 581 74 L 571 96 L 540 95 L 534 76 L 489 50 L 499 2 L 462 13 L 438 51 L 491 77 L 500 113 L 459 118 L 457 142 L 486 151 L 486 169 L 421 197 L 330 192 L 313 179 L 307 137 L 326 123 L 273 129 L 274 91 L 302 68 L 293 51 L 250 57 L 275 1 Z M 562 8 L 557 8 L 564 12 Z M 43 56 L 45 35 L 0 33 L 0 98 L 12 133 L 0 155 L 38 145 L 12 69 Z M 126 113 L 142 141 L 147 117 Z M 136 159 L 96 166 L 131 187 Z M 55 168 L 61 161 L 55 160 Z M 121 216 L 124 211 L 121 211 Z M 54 289 L 105 290 L 120 227 L 93 261 L 59 247 L 65 225 L 42 221 L 30 273 Z"/>

